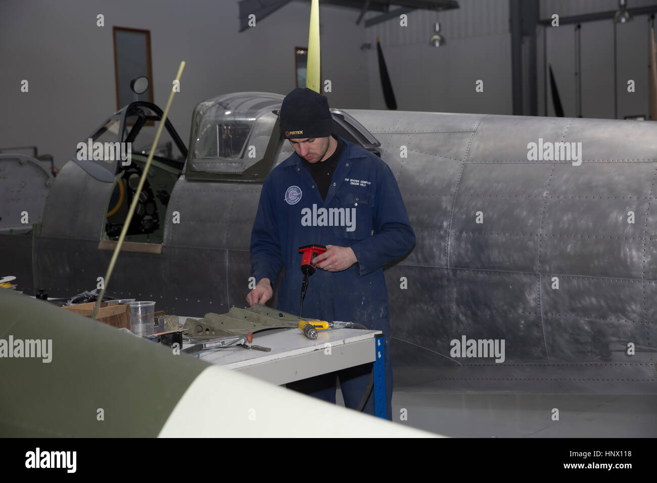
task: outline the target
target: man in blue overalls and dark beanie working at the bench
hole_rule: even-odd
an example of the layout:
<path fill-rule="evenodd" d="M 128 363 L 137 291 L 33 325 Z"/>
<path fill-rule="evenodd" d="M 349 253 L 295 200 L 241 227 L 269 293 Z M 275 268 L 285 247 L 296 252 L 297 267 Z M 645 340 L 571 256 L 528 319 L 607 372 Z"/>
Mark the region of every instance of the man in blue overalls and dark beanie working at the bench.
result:
<path fill-rule="evenodd" d="M 281 106 L 281 131 L 292 154 L 265 179 L 251 234 L 251 268 L 258 282 L 246 297 L 265 304 L 281 269 L 277 308 L 299 313 L 303 275 L 299 247 L 322 244 L 304 300 L 304 315 L 352 321 L 386 335 L 388 419 L 392 417 L 390 316 L 383 265 L 415 244 L 399 187 L 378 156 L 332 135 L 327 98 L 307 88 L 290 92 Z M 328 356 L 327 356 L 328 357 Z M 335 402 L 336 375 L 347 407 L 367 389 L 371 364 L 313 377 L 294 388 Z M 363 409 L 374 414 L 374 396 Z"/>

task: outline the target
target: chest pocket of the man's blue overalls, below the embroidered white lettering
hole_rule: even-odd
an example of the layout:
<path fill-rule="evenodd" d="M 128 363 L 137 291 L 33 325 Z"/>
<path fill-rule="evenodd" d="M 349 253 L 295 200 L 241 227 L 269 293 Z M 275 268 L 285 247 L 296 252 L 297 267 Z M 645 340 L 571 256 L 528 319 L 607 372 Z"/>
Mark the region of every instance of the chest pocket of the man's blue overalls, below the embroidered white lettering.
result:
<path fill-rule="evenodd" d="M 345 223 L 334 223 L 335 236 L 349 240 L 365 240 L 371 237 L 374 229 L 374 195 L 367 189 L 355 190 L 343 187 L 336 193 L 336 198 L 339 200 L 340 207 L 337 215 L 342 217 L 344 209 Z"/>

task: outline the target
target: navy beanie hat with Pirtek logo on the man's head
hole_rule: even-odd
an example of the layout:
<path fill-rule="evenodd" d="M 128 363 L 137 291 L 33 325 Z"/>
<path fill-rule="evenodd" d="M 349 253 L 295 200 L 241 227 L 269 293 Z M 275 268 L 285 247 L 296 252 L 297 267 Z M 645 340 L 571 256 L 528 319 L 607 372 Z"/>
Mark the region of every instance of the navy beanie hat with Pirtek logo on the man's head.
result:
<path fill-rule="evenodd" d="M 281 131 L 286 139 L 330 136 L 333 118 L 327 97 L 307 87 L 294 89 L 281 105 Z"/>

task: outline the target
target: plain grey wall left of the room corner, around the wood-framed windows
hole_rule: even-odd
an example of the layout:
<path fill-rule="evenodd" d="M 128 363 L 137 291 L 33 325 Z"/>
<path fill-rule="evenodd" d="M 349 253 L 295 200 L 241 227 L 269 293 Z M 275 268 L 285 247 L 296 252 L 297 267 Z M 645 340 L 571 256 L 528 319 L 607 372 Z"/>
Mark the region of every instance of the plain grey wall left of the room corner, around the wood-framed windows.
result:
<path fill-rule="evenodd" d="M 99 13 L 104 27 L 96 25 Z M 330 104 L 368 108 L 366 56 L 357 48 L 365 32 L 353 15 L 353 9 L 320 7 L 322 74 L 334 86 Z M 76 144 L 116 110 L 112 26 L 150 30 L 154 102 L 163 108 L 179 62 L 187 62 L 170 112 L 187 143 L 200 101 L 294 89 L 294 47 L 307 45 L 308 20 L 302 1 L 239 34 L 236 0 L 3 0 L 0 147 L 37 145 L 61 168 Z M 27 93 L 20 91 L 24 79 Z"/>

